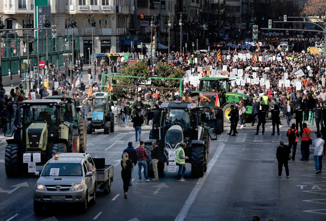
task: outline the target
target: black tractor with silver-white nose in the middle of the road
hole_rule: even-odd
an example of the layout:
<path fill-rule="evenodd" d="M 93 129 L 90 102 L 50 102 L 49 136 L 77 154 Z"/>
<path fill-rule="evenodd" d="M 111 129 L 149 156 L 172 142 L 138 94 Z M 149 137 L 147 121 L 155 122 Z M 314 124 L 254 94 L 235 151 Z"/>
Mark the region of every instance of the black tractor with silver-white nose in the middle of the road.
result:
<path fill-rule="evenodd" d="M 191 175 L 202 177 L 207 170 L 209 140 L 216 140 L 216 135 L 222 132 L 222 110 L 180 101 L 164 102 L 161 106 L 154 112 L 149 139 L 144 140 L 149 153 L 146 158 L 148 173 L 153 173 L 150 154 L 153 141 L 162 153 L 157 164 L 159 175 L 162 175 L 165 163 L 169 165 L 169 152 L 176 151 L 185 142 L 185 155 L 189 157 L 185 162 L 191 163 Z"/>

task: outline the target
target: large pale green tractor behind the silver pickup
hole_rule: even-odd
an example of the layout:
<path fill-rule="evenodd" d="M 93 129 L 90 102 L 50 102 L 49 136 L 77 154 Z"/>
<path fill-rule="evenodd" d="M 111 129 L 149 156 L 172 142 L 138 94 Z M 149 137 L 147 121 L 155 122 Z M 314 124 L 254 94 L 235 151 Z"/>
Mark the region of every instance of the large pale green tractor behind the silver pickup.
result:
<path fill-rule="evenodd" d="M 84 146 L 80 143 L 83 136 L 79 128 L 81 114 L 76 112 L 74 103 L 41 99 L 25 100 L 21 107 L 12 106 L 5 133 L 5 136 L 14 136 L 6 140 L 5 169 L 8 177 L 27 171 L 27 164 L 23 164 L 25 153 L 31 155 L 31 162 L 33 154 L 40 154 L 40 162 L 36 165 L 44 165 L 55 154 L 86 151 L 86 143 Z"/>

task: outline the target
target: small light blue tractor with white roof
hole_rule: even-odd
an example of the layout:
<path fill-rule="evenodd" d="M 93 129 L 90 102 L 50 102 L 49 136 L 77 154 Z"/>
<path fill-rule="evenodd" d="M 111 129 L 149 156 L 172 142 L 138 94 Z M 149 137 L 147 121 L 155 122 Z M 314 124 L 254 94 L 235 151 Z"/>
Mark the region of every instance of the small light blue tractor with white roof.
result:
<path fill-rule="evenodd" d="M 96 92 L 92 95 L 91 112 L 87 114 L 87 134 L 92 134 L 95 129 L 104 129 L 104 134 L 114 132 L 114 113 L 108 92 Z"/>

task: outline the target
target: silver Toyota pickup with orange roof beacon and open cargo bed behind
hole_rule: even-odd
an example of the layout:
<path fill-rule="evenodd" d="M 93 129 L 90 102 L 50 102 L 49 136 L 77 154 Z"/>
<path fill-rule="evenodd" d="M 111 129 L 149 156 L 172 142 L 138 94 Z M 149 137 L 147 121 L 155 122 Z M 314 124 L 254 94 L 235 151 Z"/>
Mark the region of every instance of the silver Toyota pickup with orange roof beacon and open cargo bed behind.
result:
<path fill-rule="evenodd" d="M 34 212 L 43 211 L 51 203 L 80 203 L 87 211 L 88 203 L 96 201 L 96 188 L 111 190 L 113 165 L 96 169 L 87 153 L 64 153 L 53 156 L 44 166 L 34 188 Z"/>

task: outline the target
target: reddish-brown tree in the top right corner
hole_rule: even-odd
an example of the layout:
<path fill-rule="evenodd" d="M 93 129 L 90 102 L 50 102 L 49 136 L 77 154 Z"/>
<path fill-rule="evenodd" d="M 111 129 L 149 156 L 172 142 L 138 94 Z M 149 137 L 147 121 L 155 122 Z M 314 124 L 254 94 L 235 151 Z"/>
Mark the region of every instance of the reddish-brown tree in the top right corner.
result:
<path fill-rule="evenodd" d="M 315 17 L 325 16 L 326 18 L 326 0 L 308 0 L 304 5 L 301 15 Z"/>

